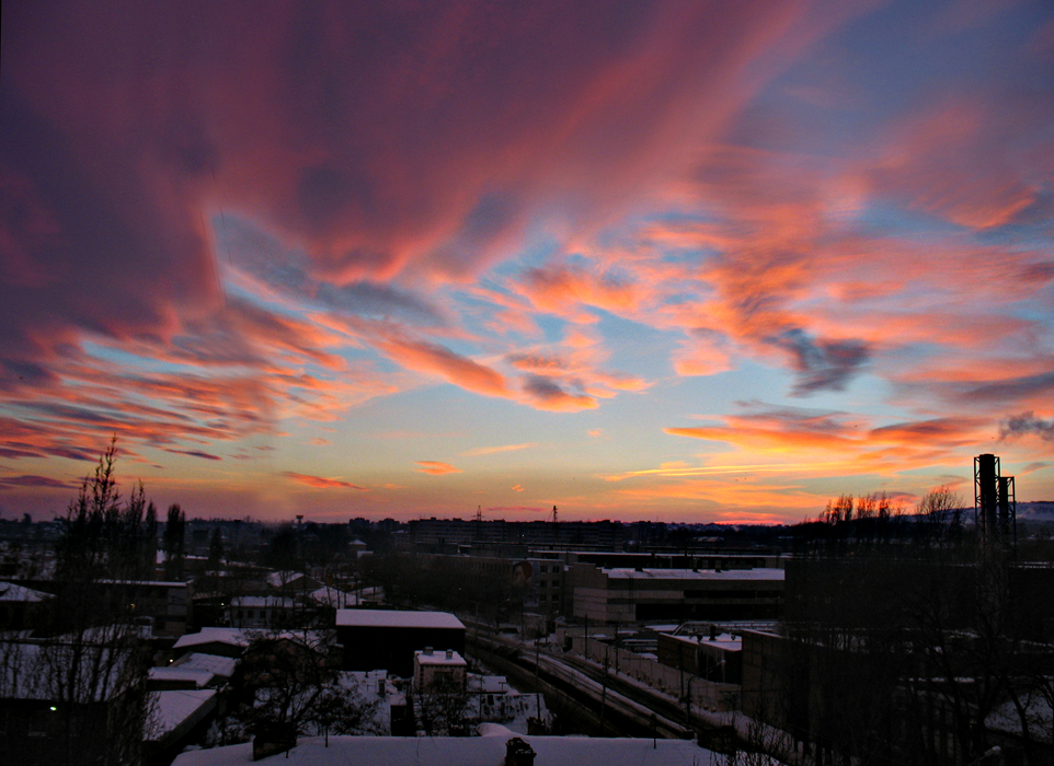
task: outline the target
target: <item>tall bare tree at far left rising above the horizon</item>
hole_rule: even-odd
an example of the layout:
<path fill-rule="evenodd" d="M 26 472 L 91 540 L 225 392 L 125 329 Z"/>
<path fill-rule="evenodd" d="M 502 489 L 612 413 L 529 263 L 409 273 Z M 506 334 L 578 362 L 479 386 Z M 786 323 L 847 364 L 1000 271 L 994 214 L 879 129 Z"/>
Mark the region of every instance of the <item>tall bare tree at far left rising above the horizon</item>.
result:
<path fill-rule="evenodd" d="M 49 703 L 43 742 L 20 740 L 9 755 L 24 746 L 60 764 L 139 761 L 150 712 L 149 652 L 135 625 L 134 604 L 148 561 L 152 569 L 156 531 L 141 484 L 122 501 L 115 462 L 116 440 L 61 520 L 46 638 L 4 648 L 3 696 Z"/>

